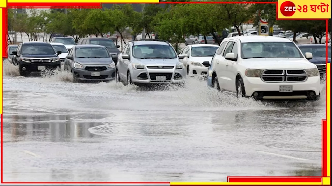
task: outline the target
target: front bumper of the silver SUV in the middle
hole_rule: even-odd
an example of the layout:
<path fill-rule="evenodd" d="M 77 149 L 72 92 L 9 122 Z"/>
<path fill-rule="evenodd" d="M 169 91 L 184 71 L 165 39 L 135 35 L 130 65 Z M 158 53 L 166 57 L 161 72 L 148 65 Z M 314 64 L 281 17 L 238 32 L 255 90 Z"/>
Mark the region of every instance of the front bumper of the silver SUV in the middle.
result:
<path fill-rule="evenodd" d="M 132 69 L 131 81 L 133 83 L 181 83 L 186 77 L 185 69 L 152 69 L 144 67 L 145 69 Z M 166 80 L 159 81 L 157 76 L 166 76 Z"/>

